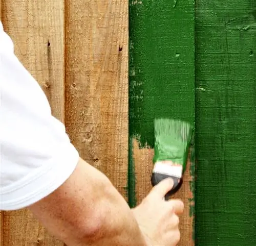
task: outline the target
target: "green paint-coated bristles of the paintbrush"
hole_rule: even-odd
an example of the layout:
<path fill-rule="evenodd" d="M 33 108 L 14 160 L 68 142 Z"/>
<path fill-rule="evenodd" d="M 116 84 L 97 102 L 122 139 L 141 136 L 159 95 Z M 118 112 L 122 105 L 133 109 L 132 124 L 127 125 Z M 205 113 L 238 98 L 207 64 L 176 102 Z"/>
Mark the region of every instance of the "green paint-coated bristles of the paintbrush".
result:
<path fill-rule="evenodd" d="M 154 127 L 155 154 L 153 162 L 173 161 L 182 165 L 184 173 L 193 128 L 188 122 L 168 118 L 155 119 Z"/>

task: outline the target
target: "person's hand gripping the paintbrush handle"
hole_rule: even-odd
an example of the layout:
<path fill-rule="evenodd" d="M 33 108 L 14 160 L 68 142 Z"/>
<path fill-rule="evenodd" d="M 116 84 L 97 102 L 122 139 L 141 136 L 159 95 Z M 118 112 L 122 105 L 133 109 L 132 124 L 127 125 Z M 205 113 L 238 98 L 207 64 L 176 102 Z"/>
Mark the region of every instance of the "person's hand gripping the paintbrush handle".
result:
<path fill-rule="evenodd" d="M 164 201 L 164 195 L 173 185 L 172 179 L 161 181 L 139 206 L 132 209 L 150 246 L 175 246 L 180 241 L 178 214 L 183 213 L 184 204 L 176 199 Z"/>

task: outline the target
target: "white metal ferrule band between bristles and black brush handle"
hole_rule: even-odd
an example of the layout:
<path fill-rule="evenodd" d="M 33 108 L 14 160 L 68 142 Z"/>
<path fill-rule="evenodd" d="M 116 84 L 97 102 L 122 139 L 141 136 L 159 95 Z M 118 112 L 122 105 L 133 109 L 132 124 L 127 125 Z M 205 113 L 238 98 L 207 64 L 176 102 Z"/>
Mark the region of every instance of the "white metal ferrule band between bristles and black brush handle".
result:
<path fill-rule="evenodd" d="M 182 165 L 174 164 L 172 161 L 157 161 L 154 165 L 153 173 L 181 178 L 182 170 Z"/>

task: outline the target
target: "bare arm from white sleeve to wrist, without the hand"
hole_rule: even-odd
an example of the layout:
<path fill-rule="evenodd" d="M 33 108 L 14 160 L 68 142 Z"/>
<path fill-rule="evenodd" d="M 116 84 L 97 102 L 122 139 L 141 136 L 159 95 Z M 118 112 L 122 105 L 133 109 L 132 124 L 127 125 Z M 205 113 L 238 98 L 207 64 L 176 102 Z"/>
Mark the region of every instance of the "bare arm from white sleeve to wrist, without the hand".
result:
<path fill-rule="evenodd" d="M 145 245 L 125 200 L 102 173 L 81 159 L 70 178 L 30 210 L 69 246 Z"/>

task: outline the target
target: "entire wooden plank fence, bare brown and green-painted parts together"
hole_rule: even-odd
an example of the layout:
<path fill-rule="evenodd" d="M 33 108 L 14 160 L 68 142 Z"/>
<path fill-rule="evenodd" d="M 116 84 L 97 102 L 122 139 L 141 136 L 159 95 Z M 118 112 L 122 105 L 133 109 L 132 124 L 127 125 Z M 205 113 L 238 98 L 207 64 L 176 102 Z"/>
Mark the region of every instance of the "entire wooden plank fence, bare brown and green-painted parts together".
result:
<path fill-rule="evenodd" d="M 196 136 L 179 245 L 256 244 L 254 0 L 0 3 L 53 114 L 131 206 L 151 189 L 153 118 L 186 119 Z M 0 218 L 1 246 L 63 246 L 26 209 Z"/>

